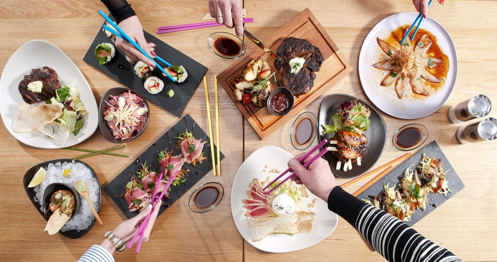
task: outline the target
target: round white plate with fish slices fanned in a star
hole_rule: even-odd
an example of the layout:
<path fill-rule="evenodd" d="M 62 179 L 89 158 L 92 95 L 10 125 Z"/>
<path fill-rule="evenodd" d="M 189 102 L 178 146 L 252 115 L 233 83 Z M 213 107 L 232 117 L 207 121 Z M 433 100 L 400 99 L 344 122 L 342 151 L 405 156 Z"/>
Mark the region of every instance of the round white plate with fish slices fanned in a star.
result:
<path fill-rule="evenodd" d="M 398 13 L 383 19 L 364 39 L 359 53 L 359 78 L 364 92 L 380 110 L 402 119 L 415 119 L 432 114 L 447 101 L 456 84 L 457 54 L 452 38 L 441 24 L 427 17 L 420 28 L 436 37 L 440 49 L 449 59 L 445 86 L 436 92 L 432 91 L 425 99 L 414 99 L 412 96 L 399 99 L 393 88 L 392 91 L 385 91 L 385 88 L 389 87 L 380 86 L 385 75 L 382 70 L 373 67 L 373 64 L 380 61 L 379 57 L 383 53 L 376 37 L 388 39 L 393 30 L 403 25 L 411 25 L 417 15 L 418 13 Z"/>

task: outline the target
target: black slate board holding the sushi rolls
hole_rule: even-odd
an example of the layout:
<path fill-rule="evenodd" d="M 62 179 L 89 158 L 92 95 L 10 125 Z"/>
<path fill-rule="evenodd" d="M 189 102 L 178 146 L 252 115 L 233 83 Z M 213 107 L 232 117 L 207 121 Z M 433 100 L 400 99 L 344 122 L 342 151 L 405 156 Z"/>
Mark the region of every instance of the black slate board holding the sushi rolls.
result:
<path fill-rule="evenodd" d="M 109 17 L 112 18 L 112 16 Z M 186 82 L 176 85 L 173 84 L 167 77 L 164 77 L 164 89 L 158 94 L 151 94 L 143 87 L 142 80 L 133 73 L 133 65 L 126 60 L 125 55 L 117 48 L 116 57 L 114 57 L 114 59 L 109 63 L 100 66 L 95 58 L 95 47 L 101 43 L 112 43 L 101 28 L 99 28 L 93 43 L 91 43 L 91 46 L 84 55 L 83 61 L 124 86 L 137 91 L 156 105 L 166 109 L 166 111 L 171 114 L 179 117 L 183 113 L 183 110 L 190 101 L 191 96 L 200 84 L 200 81 L 202 81 L 205 72 L 207 72 L 207 68 L 148 32 L 143 31 L 143 33 L 147 42 L 152 42 L 157 45 L 155 47 L 155 53 L 158 56 L 169 62 L 171 65 L 182 65 L 187 70 L 188 78 Z M 159 62 L 159 64 L 163 65 L 161 62 Z M 160 72 L 159 69 L 155 70 Z M 162 75 L 162 72 L 160 72 L 160 74 Z M 166 95 L 166 92 L 169 89 L 174 90 L 173 97 L 168 97 Z"/>

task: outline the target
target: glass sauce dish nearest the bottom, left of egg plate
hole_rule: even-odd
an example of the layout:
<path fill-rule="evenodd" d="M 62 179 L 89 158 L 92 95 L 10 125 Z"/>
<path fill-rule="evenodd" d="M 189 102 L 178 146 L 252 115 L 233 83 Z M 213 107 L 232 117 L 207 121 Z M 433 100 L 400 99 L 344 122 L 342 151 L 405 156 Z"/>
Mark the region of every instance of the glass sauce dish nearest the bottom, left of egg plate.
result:
<path fill-rule="evenodd" d="M 190 210 L 196 213 L 207 212 L 223 199 L 224 188 L 218 182 L 208 182 L 195 189 L 188 200 Z"/>

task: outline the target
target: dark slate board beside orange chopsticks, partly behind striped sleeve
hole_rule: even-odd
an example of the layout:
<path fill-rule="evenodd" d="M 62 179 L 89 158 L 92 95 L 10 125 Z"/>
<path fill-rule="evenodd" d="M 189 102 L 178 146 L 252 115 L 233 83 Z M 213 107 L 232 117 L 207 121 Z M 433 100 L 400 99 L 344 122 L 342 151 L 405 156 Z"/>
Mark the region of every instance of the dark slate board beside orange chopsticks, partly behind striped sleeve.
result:
<path fill-rule="evenodd" d="M 419 163 L 422 154 L 427 157 L 433 157 L 442 160 L 443 170 L 445 171 L 445 180 L 448 182 L 450 192 L 447 193 L 447 198 L 440 193 L 436 195 L 433 193 L 429 193 L 427 196 L 428 201 L 426 203 L 426 210 L 423 211 L 421 209 L 416 209 L 411 216 L 411 221 L 406 221 L 406 224 L 408 224 L 409 226 L 413 226 L 416 222 L 421 220 L 431 211 L 435 210 L 435 208 L 439 207 L 441 204 L 443 204 L 445 201 L 447 201 L 449 198 L 451 198 L 457 192 L 461 191 L 461 189 L 464 188 L 463 182 L 455 172 L 452 165 L 450 165 L 449 161 L 435 141 L 429 143 L 424 148 L 419 150 L 416 154 L 414 154 L 396 169 L 392 170 L 388 175 L 380 179 L 378 182 L 374 183 L 371 187 L 366 189 L 366 191 L 362 192 L 359 196 L 357 196 L 357 198 L 370 199 L 368 195 L 378 195 L 381 191 L 383 191 L 383 184 L 386 184 L 387 182 L 390 182 L 390 186 L 397 184 L 396 188 L 398 188 L 400 184 L 398 176 L 403 177 L 404 171 L 413 164 L 414 166 L 411 167 L 411 169 L 414 169 Z"/>

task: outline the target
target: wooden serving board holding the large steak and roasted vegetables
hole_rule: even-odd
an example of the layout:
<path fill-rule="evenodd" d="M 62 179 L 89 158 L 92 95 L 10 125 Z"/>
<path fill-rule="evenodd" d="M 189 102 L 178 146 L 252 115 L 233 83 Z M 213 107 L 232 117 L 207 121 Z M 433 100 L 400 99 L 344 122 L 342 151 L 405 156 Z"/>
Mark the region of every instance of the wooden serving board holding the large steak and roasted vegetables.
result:
<path fill-rule="evenodd" d="M 309 8 L 300 12 L 297 16 L 278 28 L 267 39 L 262 39 L 261 41 L 271 50 L 276 52 L 283 39 L 289 36 L 306 39 L 312 45 L 320 49 L 325 59 L 320 71 L 315 72 L 316 79 L 314 80 L 314 86 L 307 94 L 301 95 L 298 98 L 295 97 L 295 104 L 290 113 L 284 116 L 275 116 L 269 113 L 266 107 L 257 107 L 252 104 L 244 104 L 243 102 L 235 100 L 234 90 L 236 87 L 234 79 L 240 75 L 240 72 L 250 60 L 260 56 L 274 68 L 275 59 L 266 54 L 262 49 L 253 48 L 241 60 L 238 60 L 217 76 L 219 83 L 233 99 L 261 139 L 276 130 L 287 120 L 291 119 L 295 114 L 323 94 L 328 88 L 332 87 L 352 71 L 352 66 L 333 43 L 331 37 Z M 271 91 L 276 87 L 277 84 L 272 83 L 271 80 Z"/>

